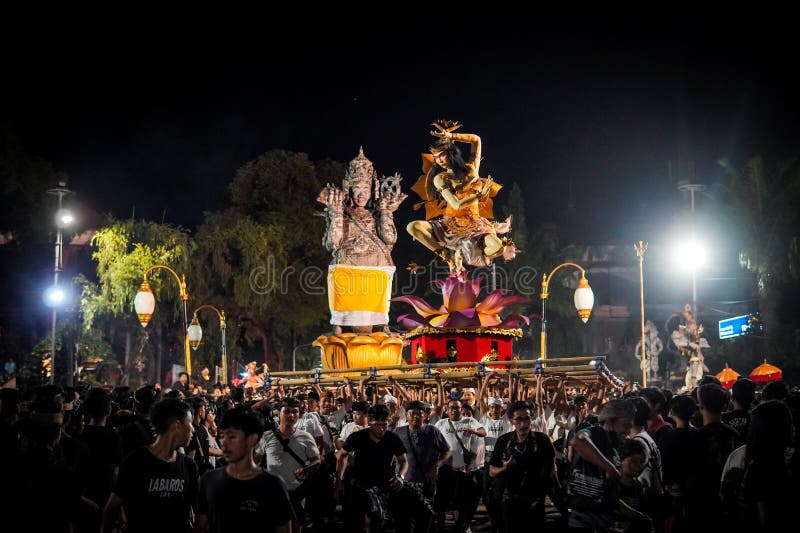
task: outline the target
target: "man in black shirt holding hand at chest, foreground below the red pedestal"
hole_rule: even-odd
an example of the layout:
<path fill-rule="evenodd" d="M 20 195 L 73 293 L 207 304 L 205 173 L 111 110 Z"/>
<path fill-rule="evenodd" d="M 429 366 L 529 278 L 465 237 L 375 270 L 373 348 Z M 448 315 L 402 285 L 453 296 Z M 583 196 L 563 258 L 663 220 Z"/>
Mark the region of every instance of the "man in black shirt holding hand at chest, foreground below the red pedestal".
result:
<path fill-rule="evenodd" d="M 501 502 L 502 530 L 544 527 L 544 499 L 555 468 L 555 449 L 544 433 L 531 431 L 531 406 L 514 402 L 509 409 L 514 431 L 498 437 L 489 475 Z"/>

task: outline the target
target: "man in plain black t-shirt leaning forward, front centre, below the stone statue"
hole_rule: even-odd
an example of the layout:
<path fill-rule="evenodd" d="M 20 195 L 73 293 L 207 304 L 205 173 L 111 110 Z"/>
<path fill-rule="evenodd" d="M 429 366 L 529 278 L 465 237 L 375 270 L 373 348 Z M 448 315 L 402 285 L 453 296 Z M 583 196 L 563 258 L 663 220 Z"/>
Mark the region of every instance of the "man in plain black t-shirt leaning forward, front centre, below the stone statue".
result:
<path fill-rule="evenodd" d="M 387 430 L 389 409 L 382 404 L 370 407 L 367 424 L 365 431 L 347 437 L 336 453 L 337 486 L 341 488 L 342 482 L 347 481 L 345 514 L 358 531 L 363 529 L 365 517 L 371 528 L 380 529 L 387 508 L 397 514 L 404 512 L 403 504 L 407 503 L 407 492 L 403 491 L 408 470 L 406 448 L 397 435 Z M 348 470 L 349 479 L 344 480 L 350 452 L 354 452 L 353 467 Z M 395 461 L 400 467 L 397 473 Z"/>

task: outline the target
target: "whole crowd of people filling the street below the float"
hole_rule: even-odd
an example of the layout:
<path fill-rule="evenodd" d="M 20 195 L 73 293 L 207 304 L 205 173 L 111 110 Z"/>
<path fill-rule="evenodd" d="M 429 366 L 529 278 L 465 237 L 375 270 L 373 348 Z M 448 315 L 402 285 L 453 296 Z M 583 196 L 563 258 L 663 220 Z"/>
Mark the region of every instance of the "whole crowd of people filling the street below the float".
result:
<path fill-rule="evenodd" d="M 205 386 L 204 386 L 205 385 Z M 474 386 L 473 386 L 474 385 Z M 245 394 L 182 376 L 2 389 L 2 501 L 26 530 L 776 531 L 798 496 L 800 393 L 685 394 L 489 373 Z M 552 516 L 552 513 L 550 514 Z"/>

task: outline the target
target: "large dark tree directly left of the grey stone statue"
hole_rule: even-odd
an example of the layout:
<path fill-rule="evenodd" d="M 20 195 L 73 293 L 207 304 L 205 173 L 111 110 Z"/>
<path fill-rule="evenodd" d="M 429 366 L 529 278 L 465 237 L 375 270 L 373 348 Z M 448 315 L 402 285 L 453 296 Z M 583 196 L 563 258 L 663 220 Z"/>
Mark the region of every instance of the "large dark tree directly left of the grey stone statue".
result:
<path fill-rule="evenodd" d="M 206 269 L 195 274 L 205 298 L 226 302 L 247 357 L 255 359 L 266 342 L 261 349 L 272 369 L 301 336 L 308 340 L 325 327 L 329 258 L 316 198 L 324 183 L 343 176 L 341 163 L 272 150 L 237 170 L 231 207 L 207 215 L 198 229 L 193 264 Z"/>

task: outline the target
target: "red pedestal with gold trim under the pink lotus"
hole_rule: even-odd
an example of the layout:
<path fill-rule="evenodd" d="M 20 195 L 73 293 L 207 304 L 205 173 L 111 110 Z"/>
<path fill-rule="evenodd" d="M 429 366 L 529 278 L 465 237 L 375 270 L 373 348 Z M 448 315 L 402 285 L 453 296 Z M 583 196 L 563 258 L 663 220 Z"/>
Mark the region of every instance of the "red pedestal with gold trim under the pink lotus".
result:
<path fill-rule="evenodd" d="M 416 328 L 405 334 L 411 343 L 411 362 L 455 363 L 509 361 L 513 340 L 522 337 L 519 328 Z M 418 355 L 422 355 L 418 360 Z"/>

